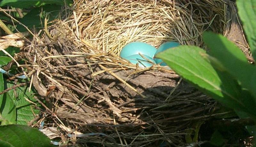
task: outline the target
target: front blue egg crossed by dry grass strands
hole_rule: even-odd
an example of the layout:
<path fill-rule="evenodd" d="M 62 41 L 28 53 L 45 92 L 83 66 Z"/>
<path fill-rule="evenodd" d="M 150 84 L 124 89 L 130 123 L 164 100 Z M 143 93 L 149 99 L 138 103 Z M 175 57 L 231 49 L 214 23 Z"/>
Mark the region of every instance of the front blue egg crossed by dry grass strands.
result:
<path fill-rule="evenodd" d="M 147 58 L 148 60 L 150 60 L 152 63 L 156 64 L 156 61 L 149 57 L 148 55 L 143 55 L 145 58 Z M 136 54 L 136 55 L 130 55 L 128 57 L 125 57 L 124 59 L 130 61 L 132 64 L 137 64 L 139 63 L 140 67 L 150 67 L 153 64 L 148 62 L 147 60 L 145 60 L 144 58 L 142 58 L 142 56 Z"/>

